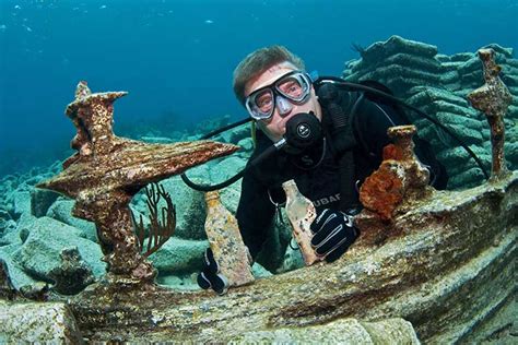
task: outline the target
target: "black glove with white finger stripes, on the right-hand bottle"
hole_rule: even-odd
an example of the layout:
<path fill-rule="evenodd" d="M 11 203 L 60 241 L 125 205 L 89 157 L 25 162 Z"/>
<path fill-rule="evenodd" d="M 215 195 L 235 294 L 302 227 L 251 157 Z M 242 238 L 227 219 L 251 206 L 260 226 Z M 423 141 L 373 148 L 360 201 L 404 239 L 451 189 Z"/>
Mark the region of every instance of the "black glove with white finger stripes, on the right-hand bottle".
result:
<path fill-rule="evenodd" d="M 340 211 L 325 209 L 311 223 L 311 246 L 327 262 L 339 259 L 358 237 L 353 216 Z"/>

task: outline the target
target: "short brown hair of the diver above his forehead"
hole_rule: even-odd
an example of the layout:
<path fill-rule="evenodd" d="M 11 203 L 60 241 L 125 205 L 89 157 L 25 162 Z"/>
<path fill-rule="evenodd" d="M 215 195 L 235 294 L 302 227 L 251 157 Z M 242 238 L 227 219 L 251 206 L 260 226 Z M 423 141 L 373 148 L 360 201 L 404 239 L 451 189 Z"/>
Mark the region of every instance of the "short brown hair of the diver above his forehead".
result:
<path fill-rule="evenodd" d="M 250 52 L 234 70 L 233 87 L 237 99 L 245 104 L 248 81 L 281 62 L 290 62 L 298 70 L 305 69 L 304 61 L 283 46 L 264 47 Z"/>

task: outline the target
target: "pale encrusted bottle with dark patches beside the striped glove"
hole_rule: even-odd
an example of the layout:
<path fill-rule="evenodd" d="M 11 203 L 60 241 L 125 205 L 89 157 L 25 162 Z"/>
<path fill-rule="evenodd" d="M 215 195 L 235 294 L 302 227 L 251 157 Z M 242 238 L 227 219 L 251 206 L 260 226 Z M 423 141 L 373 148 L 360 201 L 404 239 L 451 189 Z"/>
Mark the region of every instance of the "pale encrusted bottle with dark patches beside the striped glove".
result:
<path fill-rule="evenodd" d="M 306 265 L 321 261 L 311 247 L 313 233 L 310 225 L 317 216 L 315 205 L 309 199 L 304 197 L 294 180 L 282 183 L 286 192 L 286 214 L 293 228 L 293 237 L 297 241 L 301 253 Z"/>

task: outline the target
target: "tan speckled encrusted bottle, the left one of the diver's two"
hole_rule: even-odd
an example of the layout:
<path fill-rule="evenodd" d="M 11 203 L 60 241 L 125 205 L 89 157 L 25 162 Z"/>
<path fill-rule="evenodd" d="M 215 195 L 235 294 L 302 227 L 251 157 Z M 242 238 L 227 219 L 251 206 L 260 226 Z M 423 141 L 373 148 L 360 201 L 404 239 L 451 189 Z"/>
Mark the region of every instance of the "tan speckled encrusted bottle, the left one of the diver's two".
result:
<path fill-rule="evenodd" d="M 207 192 L 205 202 L 205 233 L 220 273 L 228 279 L 228 286 L 254 282 L 250 254 L 237 219 L 221 203 L 219 191 Z"/>

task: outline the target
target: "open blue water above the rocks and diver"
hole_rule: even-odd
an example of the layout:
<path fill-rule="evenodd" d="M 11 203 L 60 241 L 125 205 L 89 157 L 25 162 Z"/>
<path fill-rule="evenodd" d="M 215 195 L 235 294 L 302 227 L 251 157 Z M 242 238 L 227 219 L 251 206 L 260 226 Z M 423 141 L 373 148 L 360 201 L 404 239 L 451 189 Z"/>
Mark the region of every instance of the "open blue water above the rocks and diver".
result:
<path fill-rule="evenodd" d="M 0 0 L 0 176 L 66 157 L 74 128 L 63 111 L 80 80 L 130 92 L 116 103 L 116 128 L 164 114 L 183 128 L 246 116 L 232 71 L 262 46 L 285 45 L 308 70 L 340 75 L 358 58 L 351 44 L 391 35 L 447 55 L 516 49 L 517 17 L 516 0 Z"/>

